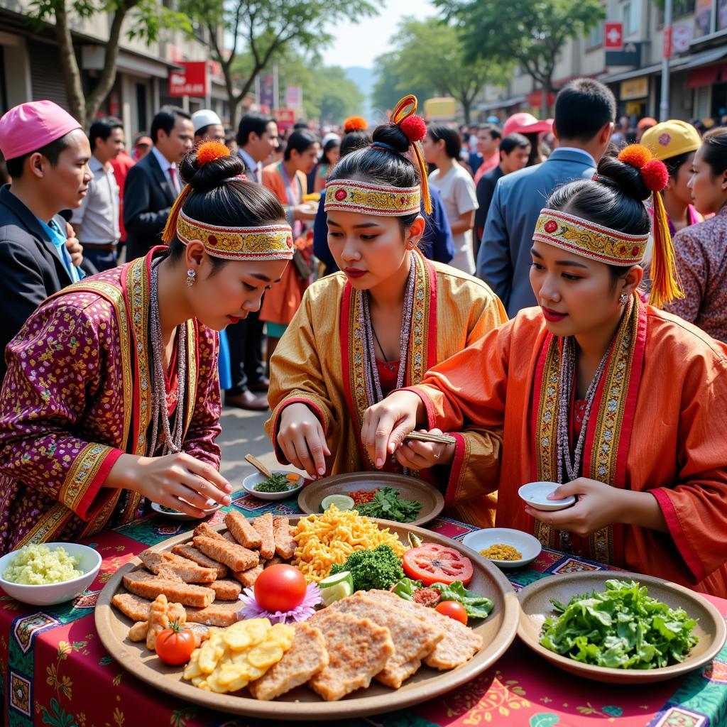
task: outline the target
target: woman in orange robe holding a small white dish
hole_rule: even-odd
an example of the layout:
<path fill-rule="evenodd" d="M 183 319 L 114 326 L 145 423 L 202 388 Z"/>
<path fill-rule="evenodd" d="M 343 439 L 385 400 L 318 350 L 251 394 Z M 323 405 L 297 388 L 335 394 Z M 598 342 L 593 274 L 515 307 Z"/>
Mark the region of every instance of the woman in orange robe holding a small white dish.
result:
<path fill-rule="evenodd" d="M 630 164 L 604 158 L 595 180 L 551 196 L 532 248 L 540 308 L 369 409 L 362 438 L 378 463 L 417 422 L 504 427 L 497 525 L 724 596 L 727 347 L 635 294 L 649 228 L 644 182 L 659 189 L 661 164 L 643 164 L 643 149 L 622 152 Z M 652 299 L 664 302 L 675 290 L 659 217 Z M 517 493 L 529 481 L 559 482 L 551 497 L 578 502 L 534 510 Z M 446 499 L 485 491 L 450 488 Z"/>

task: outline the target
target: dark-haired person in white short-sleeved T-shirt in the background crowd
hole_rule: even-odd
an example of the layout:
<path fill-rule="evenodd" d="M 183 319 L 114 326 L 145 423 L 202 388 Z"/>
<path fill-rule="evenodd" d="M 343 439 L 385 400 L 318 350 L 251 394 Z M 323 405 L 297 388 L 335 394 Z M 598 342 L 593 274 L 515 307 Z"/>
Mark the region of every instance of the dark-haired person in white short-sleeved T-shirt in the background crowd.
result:
<path fill-rule="evenodd" d="M 474 275 L 472 228 L 475 225 L 477 190 L 470 173 L 457 161 L 462 139 L 453 126 L 431 124 L 422 147 L 427 162 L 437 166 L 429 175 L 429 183 L 441 193 L 454 238 L 454 257 L 449 265 Z"/>

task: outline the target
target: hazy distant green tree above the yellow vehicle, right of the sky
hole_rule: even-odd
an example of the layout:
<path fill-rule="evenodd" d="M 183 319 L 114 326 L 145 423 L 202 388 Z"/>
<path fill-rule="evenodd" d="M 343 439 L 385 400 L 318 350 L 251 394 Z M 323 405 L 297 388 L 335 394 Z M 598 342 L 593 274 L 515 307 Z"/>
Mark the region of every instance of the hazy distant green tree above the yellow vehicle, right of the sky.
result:
<path fill-rule="evenodd" d="M 386 109 L 408 93 L 420 100 L 451 96 L 470 121 L 472 103 L 487 83 L 505 81 L 507 63 L 468 60 L 459 31 L 436 18 L 406 17 L 392 39 L 393 51 L 377 58 L 374 104 Z"/>

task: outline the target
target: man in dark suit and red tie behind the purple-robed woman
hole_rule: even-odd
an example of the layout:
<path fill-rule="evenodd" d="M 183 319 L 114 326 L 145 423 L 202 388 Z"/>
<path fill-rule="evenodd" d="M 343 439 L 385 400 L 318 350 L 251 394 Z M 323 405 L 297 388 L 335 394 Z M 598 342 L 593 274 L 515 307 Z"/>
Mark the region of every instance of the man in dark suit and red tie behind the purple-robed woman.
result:
<path fill-rule="evenodd" d="M 158 244 L 182 181 L 177 167 L 191 150 L 194 126 L 182 108 L 164 106 L 151 122 L 151 151 L 137 161 L 124 185 L 126 260 L 141 257 Z"/>

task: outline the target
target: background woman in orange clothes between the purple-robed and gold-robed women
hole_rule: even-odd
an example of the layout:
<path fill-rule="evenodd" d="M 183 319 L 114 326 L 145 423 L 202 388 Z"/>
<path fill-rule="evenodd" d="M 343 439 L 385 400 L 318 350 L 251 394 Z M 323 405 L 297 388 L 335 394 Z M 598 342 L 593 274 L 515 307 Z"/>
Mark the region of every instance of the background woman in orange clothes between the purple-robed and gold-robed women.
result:
<path fill-rule="evenodd" d="M 313 132 L 301 129 L 293 132 L 288 139 L 283 161 L 270 164 L 262 170 L 262 184 L 265 185 L 281 201 L 288 221 L 293 228 L 293 238 L 301 240 L 304 222 L 316 218 L 316 209 L 310 211 L 303 203 L 308 193 L 308 174 L 313 172 L 321 145 Z M 311 242 L 311 249 L 313 243 Z M 310 257 L 312 252 L 308 253 Z M 297 251 L 297 257 L 303 259 L 303 265 L 289 265 L 282 280 L 275 284 L 262 299 L 260 320 L 265 321 L 268 330 L 268 361 L 278 345 L 280 337 L 285 333 L 295 312 L 300 306 L 303 293 L 310 284 L 310 276 L 305 276 L 302 268 L 308 264 L 306 252 Z"/>

